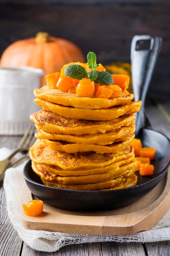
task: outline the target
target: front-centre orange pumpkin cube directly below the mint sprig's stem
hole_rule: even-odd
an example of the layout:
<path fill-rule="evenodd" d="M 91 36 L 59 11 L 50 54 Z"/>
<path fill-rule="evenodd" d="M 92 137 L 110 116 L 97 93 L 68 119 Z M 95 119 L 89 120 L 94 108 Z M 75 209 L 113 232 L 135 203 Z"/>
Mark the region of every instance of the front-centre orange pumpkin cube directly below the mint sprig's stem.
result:
<path fill-rule="evenodd" d="M 87 78 L 80 80 L 76 88 L 76 94 L 84 97 L 93 97 L 94 91 L 94 81 Z"/>

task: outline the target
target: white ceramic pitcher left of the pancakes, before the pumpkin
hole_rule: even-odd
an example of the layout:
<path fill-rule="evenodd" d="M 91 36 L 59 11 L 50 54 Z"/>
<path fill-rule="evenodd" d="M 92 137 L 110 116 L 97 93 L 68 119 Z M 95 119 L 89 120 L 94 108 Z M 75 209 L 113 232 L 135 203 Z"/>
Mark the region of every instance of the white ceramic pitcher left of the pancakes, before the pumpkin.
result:
<path fill-rule="evenodd" d="M 0 135 L 22 135 L 31 113 L 40 110 L 33 90 L 40 88 L 43 70 L 0 67 Z"/>

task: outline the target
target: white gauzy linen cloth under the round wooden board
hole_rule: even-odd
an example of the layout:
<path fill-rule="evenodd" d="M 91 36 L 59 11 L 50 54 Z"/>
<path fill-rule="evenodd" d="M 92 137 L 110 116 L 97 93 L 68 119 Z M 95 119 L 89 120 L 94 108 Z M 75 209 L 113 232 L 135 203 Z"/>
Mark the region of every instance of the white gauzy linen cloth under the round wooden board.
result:
<path fill-rule="evenodd" d="M 3 159 L 9 150 L 0 149 L 0 159 Z M 32 249 L 42 252 L 55 252 L 65 245 L 95 243 L 95 242 L 157 242 L 170 240 L 170 209 L 161 218 L 161 220 L 149 231 L 141 231 L 129 236 L 96 236 L 88 234 L 66 234 L 61 232 L 29 230 L 21 224 L 20 198 L 16 196 L 15 191 L 18 187 L 25 186 L 25 180 L 22 174 L 26 161 L 15 168 L 9 168 L 5 173 L 4 189 L 7 198 L 7 211 L 14 229 L 18 232 L 20 238 Z"/>

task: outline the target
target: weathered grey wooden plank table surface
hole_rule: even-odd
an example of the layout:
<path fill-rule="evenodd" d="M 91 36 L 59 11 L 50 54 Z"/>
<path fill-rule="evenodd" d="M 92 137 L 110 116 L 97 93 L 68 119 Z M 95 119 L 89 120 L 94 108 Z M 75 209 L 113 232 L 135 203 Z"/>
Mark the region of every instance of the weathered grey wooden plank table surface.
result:
<path fill-rule="evenodd" d="M 154 103 L 154 104 L 153 104 Z M 167 110 L 167 111 L 166 111 Z M 146 112 L 155 130 L 164 133 L 170 138 L 170 103 L 165 101 L 163 105 L 147 99 Z M 0 136 L 0 148 L 17 146 L 20 136 Z M 27 246 L 13 228 L 8 214 L 3 182 L 0 182 L 0 255 L 1 256 L 169 256 L 170 241 L 156 243 L 85 243 L 79 245 L 67 245 L 57 252 L 38 252 Z"/>

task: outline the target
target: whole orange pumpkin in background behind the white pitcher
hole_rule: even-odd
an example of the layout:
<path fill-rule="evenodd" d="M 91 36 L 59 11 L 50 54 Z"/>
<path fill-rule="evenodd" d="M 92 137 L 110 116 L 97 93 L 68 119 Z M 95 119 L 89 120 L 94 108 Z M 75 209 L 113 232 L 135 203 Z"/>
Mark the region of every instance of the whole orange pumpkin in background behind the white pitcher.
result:
<path fill-rule="evenodd" d="M 63 38 L 49 36 L 38 32 L 35 38 L 16 41 L 2 53 L 0 66 L 29 66 L 44 70 L 40 86 L 46 85 L 45 76 L 60 72 L 63 65 L 71 62 L 86 62 L 85 57 L 74 43 Z"/>

